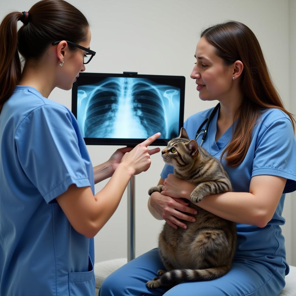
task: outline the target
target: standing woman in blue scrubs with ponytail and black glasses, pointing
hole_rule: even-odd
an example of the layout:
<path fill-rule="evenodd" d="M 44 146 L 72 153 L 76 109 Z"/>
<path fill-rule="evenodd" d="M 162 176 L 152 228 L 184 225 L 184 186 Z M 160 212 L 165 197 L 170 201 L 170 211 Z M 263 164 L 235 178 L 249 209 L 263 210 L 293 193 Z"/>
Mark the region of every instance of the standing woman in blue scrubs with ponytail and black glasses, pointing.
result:
<path fill-rule="evenodd" d="M 93 237 L 159 151 L 147 148 L 155 134 L 93 167 L 73 114 L 47 99 L 72 88 L 95 54 L 90 40 L 84 15 L 62 0 L 1 22 L 0 295 L 93 296 Z"/>

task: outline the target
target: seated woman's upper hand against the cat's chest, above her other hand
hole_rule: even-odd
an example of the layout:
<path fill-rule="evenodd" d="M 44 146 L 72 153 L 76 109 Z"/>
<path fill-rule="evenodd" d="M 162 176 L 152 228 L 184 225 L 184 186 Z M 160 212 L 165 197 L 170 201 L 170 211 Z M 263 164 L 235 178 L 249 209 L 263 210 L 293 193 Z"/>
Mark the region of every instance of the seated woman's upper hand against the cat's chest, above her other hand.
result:
<path fill-rule="evenodd" d="M 196 185 L 181 180 L 173 174 L 168 174 L 168 178 L 165 179 L 163 184 L 161 194 L 174 198 L 186 198 L 188 200 L 190 200 L 190 194 L 196 187 Z"/>

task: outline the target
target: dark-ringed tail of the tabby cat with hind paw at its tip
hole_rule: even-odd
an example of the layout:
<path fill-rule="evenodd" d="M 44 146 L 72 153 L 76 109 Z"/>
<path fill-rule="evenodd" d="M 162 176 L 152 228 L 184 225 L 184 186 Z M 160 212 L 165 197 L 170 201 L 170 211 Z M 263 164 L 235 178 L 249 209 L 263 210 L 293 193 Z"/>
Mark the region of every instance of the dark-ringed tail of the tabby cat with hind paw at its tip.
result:
<path fill-rule="evenodd" d="M 147 287 L 158 288 L 161 286 L 175 286 L 182 281 L 210 281 L 218 279 L 230 270 L 231 266 L 219 266 L 207 269 L 173 269 L 159 271 L 159 277 L 147 282 Z"/>

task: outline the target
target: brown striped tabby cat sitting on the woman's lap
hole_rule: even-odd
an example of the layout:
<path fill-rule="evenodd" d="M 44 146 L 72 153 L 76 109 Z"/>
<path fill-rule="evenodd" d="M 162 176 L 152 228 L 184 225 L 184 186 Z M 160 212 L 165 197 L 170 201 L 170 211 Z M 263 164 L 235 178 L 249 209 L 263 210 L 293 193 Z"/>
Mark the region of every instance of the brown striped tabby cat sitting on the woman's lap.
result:
<path fill-rule="evenodd" d="M 197 185 L 191 193 L 189 206 L 198 213 L 192 215 L 196 222 L 188 223 L 187 230 L 174 229 L 165 223 L 159 236 L 159 254 L 167 271 L 159 270 L 158 276 L 146 285 L 158 288 L 182 281 L 217 279 L 231 268 L 237 244 L 236 224 L 194 203 L 207 194 L 232 191 L 229 176 L 215 157 L 195 140 L 189 140 L 184 128 L 178 138 L 168 142 L 162 156 L 165 163 L 174 166 L 176 177 Z M 162 187 L 150 188 L 149 195 L 161 192 Z"/>

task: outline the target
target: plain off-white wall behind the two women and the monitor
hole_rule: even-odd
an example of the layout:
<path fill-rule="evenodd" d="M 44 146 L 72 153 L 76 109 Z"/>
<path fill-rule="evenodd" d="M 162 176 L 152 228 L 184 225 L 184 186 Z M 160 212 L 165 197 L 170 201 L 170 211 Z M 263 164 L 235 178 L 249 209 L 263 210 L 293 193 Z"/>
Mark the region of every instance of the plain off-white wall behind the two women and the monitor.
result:
<path fill-rule="evenodd" d="M 12 10 L 28 11 L 36 1 L 1 0 L 0 19 Z M 186 119 L 195 112 L 213 107 L 202 102 L 190 79 L 194 52 L 203 28 L 225 20 L 243 22 L 257 36 L 273 81 L 292 113 L 296 113 L 296 1 L 295 0 L 69 0 L 91 24 L 91 49 L 96 56 L 87 72 L 183 75 L 186 77 Z M 0 44 L 1 46 L 1 44 Z M 49 99 L 71 107 L 71 91 L 55 89 Z M 118 147 L 88 146 L 94 165 L 107 160 Z M 296 164 L 295 164 L 296 165 Z M 163 225 L 147 210 L 147 190 L 157 184 L 163 162 L 152 156 L 150 169 L 136 176 L 136 256 L 157 246 Z M 96 185 L 96 192 L 106 181 Z M 294 197 L 294 199 L 293 199 Z M 284 207 L 287 260 L 296 265 L 296 210 L 294 194 L 287 194 Z M 96 262 L 126 257 L 127 198 L 95 237 Z"/>

